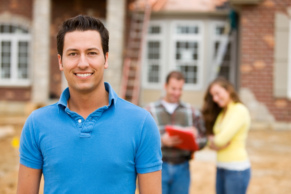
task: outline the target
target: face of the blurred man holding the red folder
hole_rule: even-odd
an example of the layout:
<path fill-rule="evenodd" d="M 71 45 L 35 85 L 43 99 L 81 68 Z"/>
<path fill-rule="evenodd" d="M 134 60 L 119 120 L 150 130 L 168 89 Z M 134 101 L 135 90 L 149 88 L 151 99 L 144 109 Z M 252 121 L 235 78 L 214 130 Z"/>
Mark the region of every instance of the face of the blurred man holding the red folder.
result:
<path fill-rule="evenodd" d="M 168 102 L 176 103 L 182 95 L 182 89 L 184 85 L 183 79 L 170 78 L 169 82 L 165 84 L 166 89 L 166 99 Z"/>

